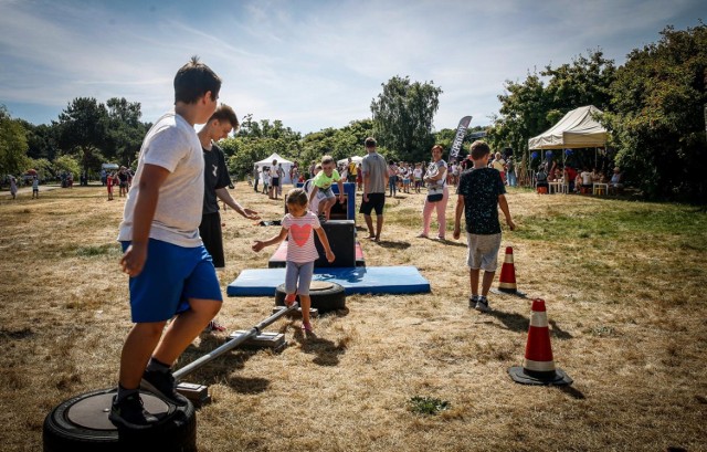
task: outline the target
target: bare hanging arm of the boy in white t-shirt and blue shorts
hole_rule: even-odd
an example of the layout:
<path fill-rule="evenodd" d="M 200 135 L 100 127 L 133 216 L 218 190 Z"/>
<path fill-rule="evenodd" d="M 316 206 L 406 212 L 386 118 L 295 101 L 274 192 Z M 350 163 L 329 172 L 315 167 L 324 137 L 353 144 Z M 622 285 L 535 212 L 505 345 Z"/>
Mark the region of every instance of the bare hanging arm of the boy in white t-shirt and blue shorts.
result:
<path fill-rule="evenodd" d="M 133 239 L 120 259 L 123 272 L 131 277 L 140 274 L 147 261 L 147 242 L 152 218 L 159 199 L 159 188 L 169 176 L 169 170 L 157 165 L 145 164 L 140 177 L 139 196 L 133 214 Z"/>

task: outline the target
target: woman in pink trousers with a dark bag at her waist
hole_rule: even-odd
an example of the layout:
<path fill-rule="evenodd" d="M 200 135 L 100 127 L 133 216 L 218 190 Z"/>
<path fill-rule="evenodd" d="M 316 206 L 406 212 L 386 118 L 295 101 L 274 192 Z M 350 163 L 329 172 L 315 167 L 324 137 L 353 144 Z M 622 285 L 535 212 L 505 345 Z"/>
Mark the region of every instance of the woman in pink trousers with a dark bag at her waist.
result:
<path fill-rule="evenodd" d="M 422 232 L 418 234 L 419 238 L 429 236 L 433 210 L 437 213 L 437 240 L 445 240 L 446 236 L 446 203 L 450 199 L 450 189 L 446 183 L 449 168 L 446 161 L 442 159 L 442 153 L 441 145 L 432 146 L 432 161 L 424 176 L 428 196 L 422 208 Z"/>

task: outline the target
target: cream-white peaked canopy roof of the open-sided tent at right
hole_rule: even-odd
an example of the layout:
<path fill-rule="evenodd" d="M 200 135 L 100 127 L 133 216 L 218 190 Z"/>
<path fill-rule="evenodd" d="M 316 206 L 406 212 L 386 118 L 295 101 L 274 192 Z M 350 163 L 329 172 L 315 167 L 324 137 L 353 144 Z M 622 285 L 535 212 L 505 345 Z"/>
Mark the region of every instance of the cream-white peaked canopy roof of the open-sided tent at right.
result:
<path fill-rule="evenodd" d="M 593 115 L 602 112 L 593 105 L 576 108 L 548 130 L 528 140 L 528 149 L 571 149 L 604 147 L 606 129 Z"/>

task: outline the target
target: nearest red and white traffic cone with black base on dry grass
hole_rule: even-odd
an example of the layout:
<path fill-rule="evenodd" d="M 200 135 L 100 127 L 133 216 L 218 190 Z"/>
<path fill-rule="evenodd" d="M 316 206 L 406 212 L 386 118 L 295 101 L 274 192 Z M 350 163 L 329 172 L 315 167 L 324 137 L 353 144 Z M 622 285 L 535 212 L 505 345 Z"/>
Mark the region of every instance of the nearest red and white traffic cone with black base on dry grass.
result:
<path fill-rule="evenodd" d="M 531 309 L 523 367 L 517 366 L 508 369 L 510 378 L 524 385 L 571 385 L 572 379 L 562 369 L 555 367 L 545 301 L 534 299 Z"/>

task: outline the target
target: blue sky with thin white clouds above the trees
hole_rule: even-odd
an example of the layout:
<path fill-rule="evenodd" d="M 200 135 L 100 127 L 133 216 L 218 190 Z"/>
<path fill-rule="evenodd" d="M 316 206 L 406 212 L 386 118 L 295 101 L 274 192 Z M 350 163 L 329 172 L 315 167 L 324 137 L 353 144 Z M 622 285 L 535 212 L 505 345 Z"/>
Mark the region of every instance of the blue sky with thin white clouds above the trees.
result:
<path fill-rule="evenodd" d="M 75 97 L 139 102 L 154 122 L 191 55 L 242 117 L 303 134 L 370 117 L 394 75 L 443 90 L 434 126 L 490 123 L 506 80 L 601 48 L 616 65 L 704 0 L 0 0 L 0 104 L 50 123 Z"/>

